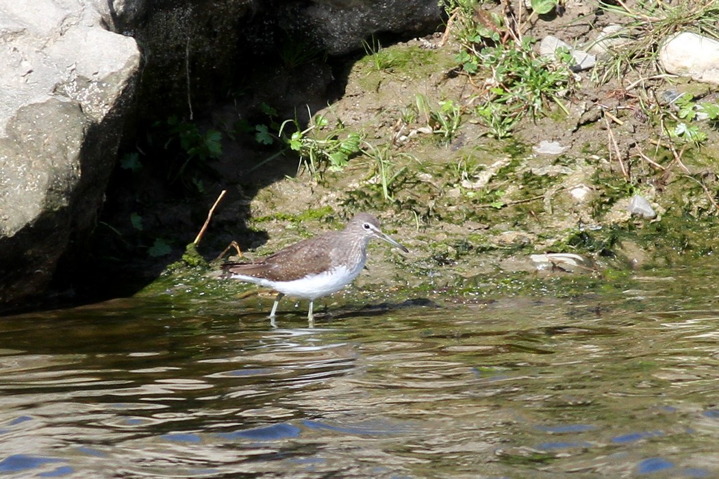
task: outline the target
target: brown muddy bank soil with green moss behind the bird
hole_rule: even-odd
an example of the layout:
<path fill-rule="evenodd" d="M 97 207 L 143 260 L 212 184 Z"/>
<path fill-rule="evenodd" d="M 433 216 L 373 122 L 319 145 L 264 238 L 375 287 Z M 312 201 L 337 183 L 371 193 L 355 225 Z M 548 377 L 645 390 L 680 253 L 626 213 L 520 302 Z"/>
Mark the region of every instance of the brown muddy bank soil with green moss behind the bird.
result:
<path fill-rule="evenodd" d="M 589 45 L 603 27 L 623 22 L 626 18 L 589 2 L 572 1 L 562 15 L 536 19 L 525 34 Z M 646 115 L 648 103 L 654 108 L 667 90 L 701 97 L 710 93 L 707 85 L 642 81 L 641 72 L 597 83 L 596 69 L 579 72 L 576 88 L 563 99 L 568 114 L 548 105 L 545 116 L 527 116 L 510 139 L 497 140 L 472 117 L 486 87 L 480 76 L 458 70 L 459 45 L 452 35 L 437 32 L 383 50 L 394 52 L 392 65 L 379 65 L 372 55 L 329 66 L 321 60 L 298 65 L 294 83 L 265 79 L 266 88 L 244 103 L 247 109 L 237 101 L 213 106 L 205 121 L 206 128 L 225 132 L 237 131 L 238 120 L 267 123 L 267 116 L 248 116 L 248 105 L 272 104 L 288 88 L 295 96 L 299 89 L 307 92 L 312 116 L 329 120 L 324 131 L 341 125 L 339 137 L 362 132 L 367 154 L 312 175 L 292 152 L 278 156 L 276 147 L 257 144 L 251 129 L 224 136 L 221 159 L 193 173 L 203 185 L 194 195 L 187 194 L 186 184 L 168 187 L 152 167 L 119 170 L 104 218 L 111 231 L 99 234 L 96 259 L 111 264 L 114 277 L 126 285 L 137 285 L 127 282 L 131 277 L 141 284 L 152 281 L 183 254 L 220 190 L 227 194 L 198 245 L 205 259 L 214 259 L 230 241 L 247 256 L 262 256 L 369 211 L 411 250 L 400 255 L 373 248 L 371 279 L 360 284 L 382 292 L 399 284 L 452 289 L 464 297 L 479 290 L 502 294 L 546 287 L 552 276 L 583 276 L 571 283 L 582 289 L 586 281 L 623 275 L 616 271 L 664 267 L 682 261 L 682 255 L 712 250 L 716 131 L 710 131 L 704 149 L 682 157 L 682 168 L 656 146 L 661 129 Z M 462 107 L 462 124 L 451 141 L 428 128 L 416 107 L 418 95 L 434 108 L 448 99 Z M 327 98 L 334 101 L 320 107 Z M 285 109 L 273 116 L 275 126 L 278 118 L 295 116 L 302 124 L 309 117 L 304 106 Z M 321 131 L 315 133 L 321 137 Z M 541 141 L 557 142 L 564 152 L 538 154 L 534 148 Z M 378 154 L 385 154 L 384 164 Z M 388 195 L 382 167 L 390 172 Z M 633 195 L 649 200 L 656 217 L 632 216 L 627 208 Z M 132 215 L 142 218 L 141 230 Z M 152 256 L 158 238 L 170 254 Z M 531 256 L 547 253 L 579 254 L 582 266 L 567 267 L 566 257 L 557 256 L 546 268 Z M 515 288 L 518 278 L 523 286 Z"/>

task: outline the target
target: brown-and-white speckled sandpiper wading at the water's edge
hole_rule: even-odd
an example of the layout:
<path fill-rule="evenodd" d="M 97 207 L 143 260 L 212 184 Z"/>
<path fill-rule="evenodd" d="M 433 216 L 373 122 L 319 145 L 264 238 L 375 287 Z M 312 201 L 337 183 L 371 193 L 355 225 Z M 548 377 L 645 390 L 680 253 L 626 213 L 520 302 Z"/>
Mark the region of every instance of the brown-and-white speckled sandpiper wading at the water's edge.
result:
<path fill-rule="evenodd" d="M 314 324 L 314 300 L 338 292 L 354 281 L 367 261 L 367 243 L 372 238 L 390 243 L 408 253 L 409 250 L 380 229 L 380 221 L 370 213 L 357 213 L 342 231 L 326 231 L 313 238 L 294 243 L 259 261 L 226 263 L 224 277 L 259 284 L 278 292 L 270 311 L 270 324 L 280 299 L 309 299 L 307 320 Z"/>

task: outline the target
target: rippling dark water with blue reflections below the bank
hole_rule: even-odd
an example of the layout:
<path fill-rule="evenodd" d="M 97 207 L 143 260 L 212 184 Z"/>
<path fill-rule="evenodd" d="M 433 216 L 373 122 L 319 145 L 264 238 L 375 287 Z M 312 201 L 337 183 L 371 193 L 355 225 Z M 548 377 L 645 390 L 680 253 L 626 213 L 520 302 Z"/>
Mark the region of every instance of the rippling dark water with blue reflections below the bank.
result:
<path fill-rule="evenodd" d="M 0 318 L 0 477 L 719 477 L 719 275 L 676 273 L 313 330 L 191 297 Z"/>

